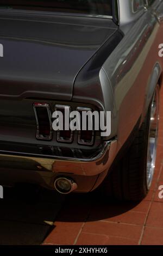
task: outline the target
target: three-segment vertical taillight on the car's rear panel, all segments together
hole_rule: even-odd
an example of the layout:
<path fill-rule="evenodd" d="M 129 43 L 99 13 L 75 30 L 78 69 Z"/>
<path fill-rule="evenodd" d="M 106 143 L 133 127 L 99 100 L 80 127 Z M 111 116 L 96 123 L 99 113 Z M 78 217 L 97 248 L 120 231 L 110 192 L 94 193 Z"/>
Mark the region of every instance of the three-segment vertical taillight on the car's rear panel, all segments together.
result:
<path fill-rule="evenodd" d="M 33 103 L 35 118 L 36 118 L 36 138 L 42 140 L 50 141 L 52 139 L 52 111 L 48 103 L 40 103 L 35 102 Z M 55 111 L 60 111 L 63 115 L 63 127 L 65 127 L 65 110 L 70 114 L 72 108 L 67 105 L 55 105 Z M 95 132 L 93 130 L 82 130 L 83 118 L 82 112 L 83 111 L 92 111 L 91 108 L 85 107 L 77 107 L 74 109 L 80 113 L 80 131 L 72 131 L 68 127 L 66 130 L 58 130 L 57 131 L 57 142 L 64 142 L 64 143 L 72 143 L 74 142 L 74 133 L 77 132 L 77 142 L 78 144 L 82 145 L 93 145 Z M 69 118 L 69 123 L 71 119 Z"/>

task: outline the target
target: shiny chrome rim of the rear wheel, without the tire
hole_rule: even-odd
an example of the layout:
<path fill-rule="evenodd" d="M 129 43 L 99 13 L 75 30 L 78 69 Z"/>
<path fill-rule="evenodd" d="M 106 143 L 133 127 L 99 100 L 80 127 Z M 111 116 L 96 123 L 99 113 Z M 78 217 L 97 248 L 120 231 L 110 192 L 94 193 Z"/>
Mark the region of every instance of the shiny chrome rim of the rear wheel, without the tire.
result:
<path fill-rule="evenodd" d="M 148 148 L 147 148 L 147 188 L 151 187 L 155 161 L 156 161 L 156 146 L 158 141 L 158 123 L 159 123 L 159 87 L 156 88 L 150 113 L 150 123 L 148 132 Z"/>

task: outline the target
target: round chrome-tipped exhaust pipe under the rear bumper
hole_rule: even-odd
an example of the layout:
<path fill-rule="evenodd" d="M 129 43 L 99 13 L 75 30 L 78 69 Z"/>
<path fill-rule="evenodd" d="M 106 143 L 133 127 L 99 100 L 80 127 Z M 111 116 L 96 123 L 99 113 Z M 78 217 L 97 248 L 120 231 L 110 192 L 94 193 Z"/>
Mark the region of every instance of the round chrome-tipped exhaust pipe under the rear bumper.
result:
<path fill-rule="evenodd" d="M 70 178 L 60 177 L 55 179 L 54 188 L 60 194 L 69 194 L 72 191 L 76 190 L 78 185 Z"/>

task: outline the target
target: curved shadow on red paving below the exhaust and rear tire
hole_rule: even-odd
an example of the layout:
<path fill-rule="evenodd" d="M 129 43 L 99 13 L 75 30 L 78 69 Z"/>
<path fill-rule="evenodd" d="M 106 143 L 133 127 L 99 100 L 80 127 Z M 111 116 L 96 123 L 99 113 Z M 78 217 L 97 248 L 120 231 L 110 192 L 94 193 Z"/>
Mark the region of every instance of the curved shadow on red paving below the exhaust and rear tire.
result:
<path fill-rule="evenodd" d="M 140 202 L 120 202 L 105 199 L 98 193 L 72 193 L 65 200 L 57 221 L 92 222 L 121 215 L 137 206 Z"/>

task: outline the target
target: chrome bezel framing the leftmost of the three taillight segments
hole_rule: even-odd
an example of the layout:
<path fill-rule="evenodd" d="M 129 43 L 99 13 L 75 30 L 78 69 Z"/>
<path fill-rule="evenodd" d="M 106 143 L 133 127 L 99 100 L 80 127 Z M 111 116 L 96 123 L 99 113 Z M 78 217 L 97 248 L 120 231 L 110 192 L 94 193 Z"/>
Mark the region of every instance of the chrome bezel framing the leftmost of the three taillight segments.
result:
<path fill-rule="evenodd" d="M 47 109 L 47 114 L 48 114 L 48 119 L 49 119 L 49 136 L 47 137 L 42 137 L 40 136 L 40 126 L 39 126 L 39 119 L 37 117 L 37 112 L 36 112 L 36 108 L 37 107 L 42 107 L 42 108 L 46 108 Z M 33 103 L 33 109 L 34 109 L 34 113 L 35 113 L 35 119 L 36 119 L 36 138 L 39 140 L 43 140 L 43 141 L 51 141 L 52 139 L 52 113 L 51 113 L 51 108 L 49 106 L 48 103 L 40 103 L 40 102 L 34 102 Z"/>

